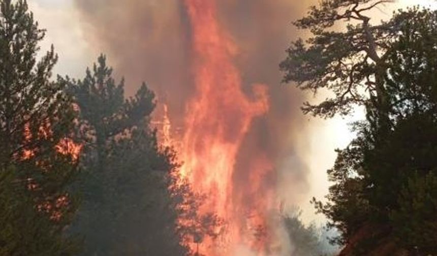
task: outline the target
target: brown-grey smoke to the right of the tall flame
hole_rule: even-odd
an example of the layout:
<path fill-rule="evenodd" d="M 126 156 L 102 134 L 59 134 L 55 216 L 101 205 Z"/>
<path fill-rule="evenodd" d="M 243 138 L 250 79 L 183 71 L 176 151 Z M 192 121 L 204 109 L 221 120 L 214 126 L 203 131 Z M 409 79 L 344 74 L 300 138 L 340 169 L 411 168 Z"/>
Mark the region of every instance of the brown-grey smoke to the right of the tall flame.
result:
<path fill-rule="evenodd" d="M 303 149 L 297 143 L 297 137 L 305 137 L 306 127 L 300 112 L 302 94 L 280 83 L 282 76 L 277 67 L 284 49 L 297 35 L 291 21 L 306 11 L 309 3 L 305 2 L 224 0 L 219 5 L 222 21 L 239 47 L 236 64 L 245 89 L 262 83 L 269 86 L 270 95 L 269 113 L 254 121 L 241 147 L 237 163 L 241 171 L 235 183 L 244 187 L 252 158 L 264 154 L 276 169 L 264 178 L 264 186 L 274 183 L 288 206 L 303 200 L 308 189 L 307 169 L 301 161 Z M 246 200 L 253 199 L 248 195 Z"/>

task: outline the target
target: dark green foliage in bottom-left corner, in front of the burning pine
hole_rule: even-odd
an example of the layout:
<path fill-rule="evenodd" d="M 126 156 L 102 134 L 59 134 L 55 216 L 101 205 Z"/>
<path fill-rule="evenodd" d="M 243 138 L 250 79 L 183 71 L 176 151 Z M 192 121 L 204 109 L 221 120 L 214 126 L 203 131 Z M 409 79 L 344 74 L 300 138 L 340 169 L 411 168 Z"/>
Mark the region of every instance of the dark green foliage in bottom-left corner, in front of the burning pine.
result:
<path fill-rule="evenodd" d="M 32 193 L 17 169 L 0 168 L 0 255 L 73 255 L 79 244 L 66 240 L 60 227 L 35 208 Z M 58 225 L 56 225 L 58 226 Z"/>

